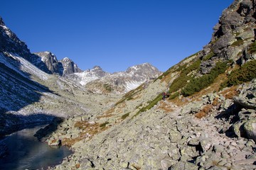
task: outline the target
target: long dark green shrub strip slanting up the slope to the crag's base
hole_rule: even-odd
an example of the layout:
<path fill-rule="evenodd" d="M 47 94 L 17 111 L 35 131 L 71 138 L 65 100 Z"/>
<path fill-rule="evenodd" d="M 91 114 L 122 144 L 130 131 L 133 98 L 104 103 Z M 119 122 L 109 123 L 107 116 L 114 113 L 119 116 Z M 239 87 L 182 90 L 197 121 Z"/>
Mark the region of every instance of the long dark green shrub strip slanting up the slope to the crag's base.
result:
<path fill-rule="evenodd" d="M 213 83 L 219 74 L 225 72 L 227 64 L 227 62 L 217 62 L 216 66 L 211 69 L 210 74 L 205 74 L 202 77 L 191 79 L 191 81 L 189 81 L 188 84 L 186 84 L 186 86 L 181 90 L 181 94 L 183 96 L 191 96 L 192 94 L 206 88 Z"/>

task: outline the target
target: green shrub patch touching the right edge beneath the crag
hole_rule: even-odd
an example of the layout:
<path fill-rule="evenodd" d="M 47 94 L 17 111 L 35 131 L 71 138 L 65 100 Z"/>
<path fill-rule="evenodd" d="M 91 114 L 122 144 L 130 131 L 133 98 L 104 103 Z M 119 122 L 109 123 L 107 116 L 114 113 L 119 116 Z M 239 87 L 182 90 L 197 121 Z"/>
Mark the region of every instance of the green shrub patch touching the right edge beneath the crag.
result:
<path fill-rule="evenodd" d="M 242 84 L 255 78 L 256 60 L 252 60 L 243 64 L 239 69 L 233 70 L 233 72 L 228 75 L 228 80 L 220 84 L 220 88 L 223 89 L 227 86 Z"/>

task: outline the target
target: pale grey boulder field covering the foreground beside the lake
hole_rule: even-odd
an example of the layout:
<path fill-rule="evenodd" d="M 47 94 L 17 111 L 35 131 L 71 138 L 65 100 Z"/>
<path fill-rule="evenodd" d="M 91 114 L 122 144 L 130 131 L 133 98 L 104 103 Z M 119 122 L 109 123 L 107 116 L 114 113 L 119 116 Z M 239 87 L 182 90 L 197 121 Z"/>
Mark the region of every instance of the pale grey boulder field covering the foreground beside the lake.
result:
<path fill-rule="evenodd" d="M 65 121 L 49 145 L 63 135 L 84 136 L 72 143 L 73 155 L 49 169 L 256 169 L 256 80 L 238 86 L 238 96 L 226 91 L 182 107 L 160 101 L 114 125 Z"/>

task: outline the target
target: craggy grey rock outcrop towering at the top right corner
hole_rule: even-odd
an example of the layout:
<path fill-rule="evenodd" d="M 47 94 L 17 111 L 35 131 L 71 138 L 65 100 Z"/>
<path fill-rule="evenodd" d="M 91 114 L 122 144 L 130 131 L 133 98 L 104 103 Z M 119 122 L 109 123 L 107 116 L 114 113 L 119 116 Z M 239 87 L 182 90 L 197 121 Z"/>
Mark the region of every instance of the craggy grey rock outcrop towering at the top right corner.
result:
<path fill-rule="evenodd" d="M 208 45 L 203 47 L 201 57 L 204 60 L 233 60 L 243 64 L 255 59 L 255 54 L 248 54 L 247 48 L 256 38 L 255 2 L 235 0 L 220 16 L 213 28 L 213 36 Z M 209 67 L 210 66 L 210 67 Z M 201 70 L 210 72 L 211 65 L 201 64 Z"/>

